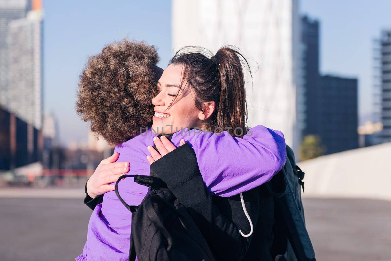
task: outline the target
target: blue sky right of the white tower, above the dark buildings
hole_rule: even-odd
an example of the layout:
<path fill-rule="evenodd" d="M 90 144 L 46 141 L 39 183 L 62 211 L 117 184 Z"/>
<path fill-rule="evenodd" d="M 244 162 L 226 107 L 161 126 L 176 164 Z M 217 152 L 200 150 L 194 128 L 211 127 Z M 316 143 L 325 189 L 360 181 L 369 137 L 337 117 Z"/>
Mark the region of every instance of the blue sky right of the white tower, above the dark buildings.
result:
<path fill-rule="evenodd" d="M 320 70 L 359 79 L 359 113 L 368 119 L 372 103 L 373 45 L 391 29 L 389 0 L 301 0 L 301 13 L 320 21 Z"/>

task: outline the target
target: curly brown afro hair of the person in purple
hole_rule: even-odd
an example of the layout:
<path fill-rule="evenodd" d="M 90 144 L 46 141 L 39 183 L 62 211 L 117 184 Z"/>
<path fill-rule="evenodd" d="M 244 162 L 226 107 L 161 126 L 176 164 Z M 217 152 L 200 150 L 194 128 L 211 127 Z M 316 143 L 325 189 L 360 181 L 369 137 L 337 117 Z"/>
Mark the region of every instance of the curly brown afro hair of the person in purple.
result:
<path fill-rule="evenodd" d="M 122 40 L 88 59 L 80 75 L 76 110 L 93 133 L 118 145 L 152 124 L 156 96 L 154 46 Z"/>

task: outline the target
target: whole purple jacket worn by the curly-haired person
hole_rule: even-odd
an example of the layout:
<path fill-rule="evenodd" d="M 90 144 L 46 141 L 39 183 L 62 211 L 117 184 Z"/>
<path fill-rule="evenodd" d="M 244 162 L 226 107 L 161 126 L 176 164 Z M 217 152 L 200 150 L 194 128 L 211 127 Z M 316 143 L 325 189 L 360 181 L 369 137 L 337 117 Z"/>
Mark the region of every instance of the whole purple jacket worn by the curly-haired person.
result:
<path fill-rule="evenodd" d="M 118 162 L 130 163 L 129 175 L 149 175 L 150 155 L 158 135 L 151 128 L 115 148 Z M 171 141 L 179 146 L 185 139 L 192 145 L 206 187 L 213 195 L 230 197 L 269 181 L 286 161 L 285 139 L 281 131 L 258 125 L 241 138 L 228 131 L 210 133 L 184 129 L 174 133 Z M 139 205 L 148 187 L 126 178 L 118 184 L 118 191 L 128 205 Z M 118 200 L 115 191 L 104 194 L 88 224 L 83 254 L 76 261 L 128 259 L 132 214 Z"/>

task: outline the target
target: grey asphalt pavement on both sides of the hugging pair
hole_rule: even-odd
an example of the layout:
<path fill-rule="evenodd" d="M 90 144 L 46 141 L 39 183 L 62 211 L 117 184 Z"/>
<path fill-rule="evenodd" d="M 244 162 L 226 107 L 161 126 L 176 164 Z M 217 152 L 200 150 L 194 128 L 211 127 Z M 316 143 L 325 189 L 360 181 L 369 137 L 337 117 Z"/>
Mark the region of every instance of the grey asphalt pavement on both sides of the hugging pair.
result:
<path fill-rule="evenodd" d="M 391 202 L 303 201 L 318 261 L 391 260 Z M 0 260 L 74 260 L 90 214 L 82 199 L 0 198 Z"/>

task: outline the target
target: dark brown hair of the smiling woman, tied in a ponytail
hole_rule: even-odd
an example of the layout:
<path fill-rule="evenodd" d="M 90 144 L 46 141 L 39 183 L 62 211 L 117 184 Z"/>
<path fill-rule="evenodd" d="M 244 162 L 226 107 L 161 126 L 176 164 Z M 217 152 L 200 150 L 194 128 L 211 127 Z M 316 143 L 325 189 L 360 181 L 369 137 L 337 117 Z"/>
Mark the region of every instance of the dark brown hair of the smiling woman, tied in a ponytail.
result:
<path fill-rule="evenodd" d="M 250 75 L 251 71 L 248 62 L 235 47 L 222 47 L 215 55 L 200 47 L 184 47 L 174 55 L 170 64 L 184 66 L 182 81 L 188 81 L 194 89 L 195 105 L 199 110 L 204 112 L 204 102 L 215 102 L 214 112 L 205 121 L 207 130 L 229 131 L 231 135 L 238 137 L 246 134 L 247 105 L 243 65 Z"/>

